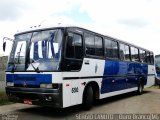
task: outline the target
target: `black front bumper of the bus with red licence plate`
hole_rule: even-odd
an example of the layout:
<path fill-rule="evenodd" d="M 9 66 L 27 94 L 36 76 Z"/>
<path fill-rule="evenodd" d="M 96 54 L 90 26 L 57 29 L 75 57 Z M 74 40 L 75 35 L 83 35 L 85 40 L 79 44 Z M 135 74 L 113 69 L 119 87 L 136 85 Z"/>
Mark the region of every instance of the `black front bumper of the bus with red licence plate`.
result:
<path fill-rule="evenodd" d="M 6 87 L 10 101 L 62 108 L 62 85 L 58 89 Z M 27 102 L 28 101 L 28 102 Z"/>

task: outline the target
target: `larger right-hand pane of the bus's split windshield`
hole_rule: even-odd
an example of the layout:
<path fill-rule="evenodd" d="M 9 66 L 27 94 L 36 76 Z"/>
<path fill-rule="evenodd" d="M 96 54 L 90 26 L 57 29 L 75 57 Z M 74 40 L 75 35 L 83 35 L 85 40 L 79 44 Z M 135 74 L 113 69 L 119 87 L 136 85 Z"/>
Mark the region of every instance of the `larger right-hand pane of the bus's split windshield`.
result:
<path fill-rule="evenodd" d="M 34 32 L 30 45 L 30 64 L 27 70 L 59 70 L 61 42 L 61 30 Z"/>

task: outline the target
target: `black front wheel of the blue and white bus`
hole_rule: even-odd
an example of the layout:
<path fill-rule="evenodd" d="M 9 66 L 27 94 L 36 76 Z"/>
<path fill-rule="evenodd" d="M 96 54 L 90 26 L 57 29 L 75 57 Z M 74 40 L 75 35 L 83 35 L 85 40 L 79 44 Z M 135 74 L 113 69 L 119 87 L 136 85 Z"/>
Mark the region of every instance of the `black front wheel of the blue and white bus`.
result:
<path fill-rule="evenodd" d="M 88 86 L 86 90 L 84 91 L 84 96 L 83 96 L 83 108 L 85 110 L 91 109 L 93 105 L 93 89 L 91 86 Z"/>

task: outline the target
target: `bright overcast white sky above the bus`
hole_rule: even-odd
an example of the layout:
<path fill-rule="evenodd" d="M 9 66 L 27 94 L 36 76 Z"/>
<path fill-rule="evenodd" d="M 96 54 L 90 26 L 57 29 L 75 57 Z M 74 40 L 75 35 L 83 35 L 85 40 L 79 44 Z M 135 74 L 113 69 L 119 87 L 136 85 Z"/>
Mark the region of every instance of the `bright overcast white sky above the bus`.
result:
<path fill-rule="evenodd" d="M 160 0 L 0 0 L 3 37 L 39 24 L 76 24 L 160 54 Z"/>

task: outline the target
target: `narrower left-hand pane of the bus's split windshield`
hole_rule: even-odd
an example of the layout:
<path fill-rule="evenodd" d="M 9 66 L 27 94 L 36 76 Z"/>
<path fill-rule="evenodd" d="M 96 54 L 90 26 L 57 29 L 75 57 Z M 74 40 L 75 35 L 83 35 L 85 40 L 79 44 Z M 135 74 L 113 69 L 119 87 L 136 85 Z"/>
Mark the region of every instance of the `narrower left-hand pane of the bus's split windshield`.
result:
<path fill-rule="evenodd" d="M 7 71 L 24 71 L 26 50 L 31 38 L 31 33 L 16 35 L 10 53 Z"/>

